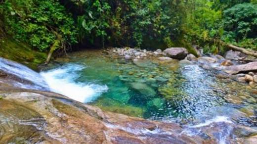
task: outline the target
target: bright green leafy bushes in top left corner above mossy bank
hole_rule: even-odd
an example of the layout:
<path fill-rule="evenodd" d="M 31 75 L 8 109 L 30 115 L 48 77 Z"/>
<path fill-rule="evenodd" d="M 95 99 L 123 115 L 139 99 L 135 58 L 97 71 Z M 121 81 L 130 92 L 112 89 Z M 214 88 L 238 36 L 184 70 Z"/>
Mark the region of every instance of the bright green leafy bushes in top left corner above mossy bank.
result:
<path fill-rule="evenodd" d="M 9 35 L 44 51 L 61 35 L 64 45 L 76 43 L 74 21 L 57 0 L 5 0 L 1 6 Z"/>

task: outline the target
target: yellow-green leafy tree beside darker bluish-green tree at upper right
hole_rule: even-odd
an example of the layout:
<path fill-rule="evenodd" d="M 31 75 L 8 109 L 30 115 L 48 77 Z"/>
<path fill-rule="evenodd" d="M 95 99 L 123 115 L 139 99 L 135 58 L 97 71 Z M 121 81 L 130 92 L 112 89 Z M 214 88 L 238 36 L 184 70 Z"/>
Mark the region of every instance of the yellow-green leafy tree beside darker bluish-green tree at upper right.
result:
<path fill-rule="evenodd" d="M 209 0 L 195 0 L 195 9 L 187 12 L 187 21 L 184 31 L 190 37 L 188 39 L 194 40 L 198 37 L 196 43 L 206 41 L 209 38 L 216 38 L 222 35 L 222 28 L 219 27 L 218 23 L 221 19 L 221 11 L 214 10 L 213 2 Z"/>

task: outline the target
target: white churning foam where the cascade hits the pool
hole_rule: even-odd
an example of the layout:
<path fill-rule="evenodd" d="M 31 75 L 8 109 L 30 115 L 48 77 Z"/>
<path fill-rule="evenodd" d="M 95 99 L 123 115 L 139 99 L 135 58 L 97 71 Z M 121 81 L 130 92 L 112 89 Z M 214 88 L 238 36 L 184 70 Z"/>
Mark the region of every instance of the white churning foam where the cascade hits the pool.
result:
<path fill-rule="evenodd" d="M 68 64 L 53 70 L 41 72 L 51 91 L 68 96 L 80 102 L 90 102 L 108 91 L 106 85 L 75 82 L 77 73 L 86 68 L 79 64 Z"/>

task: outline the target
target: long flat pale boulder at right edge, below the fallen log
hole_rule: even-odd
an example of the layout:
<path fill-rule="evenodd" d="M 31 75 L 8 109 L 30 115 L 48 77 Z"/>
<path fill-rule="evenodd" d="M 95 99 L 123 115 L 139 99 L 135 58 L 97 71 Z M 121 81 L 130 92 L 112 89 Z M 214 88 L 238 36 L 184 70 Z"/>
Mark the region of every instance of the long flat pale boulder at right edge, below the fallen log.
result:
<path fill-rule="evenodd" d="M 257 61 L 241 65 L 232 65 L 223 69 L 228 74 L 237 74 L 250 71 L 257 71 Z"/>

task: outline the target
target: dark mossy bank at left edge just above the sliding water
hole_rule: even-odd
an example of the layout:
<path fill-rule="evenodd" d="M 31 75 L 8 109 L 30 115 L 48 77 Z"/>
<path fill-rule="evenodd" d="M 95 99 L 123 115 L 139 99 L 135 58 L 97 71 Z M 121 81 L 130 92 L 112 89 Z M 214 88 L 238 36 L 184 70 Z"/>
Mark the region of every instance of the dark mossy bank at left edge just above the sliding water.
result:
<path fill-rule="evenodd" d="M 0 57 L 25 64 L 32 69 L 46 59 L 46 53 L 33 50 L 29 45 L 10 39 L 0 40 Z"/>

